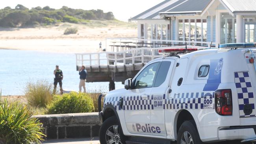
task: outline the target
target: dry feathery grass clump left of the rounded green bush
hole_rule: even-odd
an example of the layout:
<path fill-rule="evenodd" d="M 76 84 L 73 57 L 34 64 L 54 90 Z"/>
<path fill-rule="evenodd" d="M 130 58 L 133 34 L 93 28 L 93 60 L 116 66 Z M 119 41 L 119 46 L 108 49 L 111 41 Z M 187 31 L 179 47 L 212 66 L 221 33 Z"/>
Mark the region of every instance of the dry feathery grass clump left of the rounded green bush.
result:
<path fill-rule="evenodd" d="M 25 96 L 33 107 L 46 107 L 52 100 L 54 91 L 52 84 L 46 80 L 28 82 L 25 88 Z"/>

